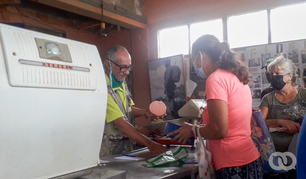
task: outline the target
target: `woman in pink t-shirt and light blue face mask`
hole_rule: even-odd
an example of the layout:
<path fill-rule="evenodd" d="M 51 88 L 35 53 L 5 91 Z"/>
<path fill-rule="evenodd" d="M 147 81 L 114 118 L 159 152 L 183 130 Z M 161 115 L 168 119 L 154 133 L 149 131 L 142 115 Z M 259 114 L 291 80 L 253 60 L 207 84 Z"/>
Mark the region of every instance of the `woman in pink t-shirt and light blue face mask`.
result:
<path fill-rule="evenodd" d="M 252 95 L 248 87 L 248 68 L 240 54 L 227 42 L 213 35 L 203 35 L 192 45 L 197 74 L 205 78 L 207 107 L 203 111 L 200 134 L 209 139 L 216 178 L 263 178 L 260 153 L 251 135 Z M 169 133 L 172 140 L 185 143 L 192 135 L 192 125 Z"/>

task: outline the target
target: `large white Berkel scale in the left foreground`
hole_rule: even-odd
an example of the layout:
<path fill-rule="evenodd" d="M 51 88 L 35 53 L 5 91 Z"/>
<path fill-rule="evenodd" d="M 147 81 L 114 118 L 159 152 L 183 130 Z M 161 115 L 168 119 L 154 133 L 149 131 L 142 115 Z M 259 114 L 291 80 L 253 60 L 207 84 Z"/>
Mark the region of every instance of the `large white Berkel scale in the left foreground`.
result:
<path fill-rule="evenodd" d="M 107 90 L 96 46 L 0 24 L 0 99 L 0 178 L 98 165 Z"/>

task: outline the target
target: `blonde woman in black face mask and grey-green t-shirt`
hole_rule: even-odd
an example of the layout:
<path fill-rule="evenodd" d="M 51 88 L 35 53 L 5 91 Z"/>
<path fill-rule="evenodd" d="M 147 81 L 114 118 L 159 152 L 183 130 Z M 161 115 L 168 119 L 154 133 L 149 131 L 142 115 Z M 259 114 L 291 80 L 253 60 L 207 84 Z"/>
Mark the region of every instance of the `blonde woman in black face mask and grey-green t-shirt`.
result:
<path fill-rule="evenodd" d="M 296 151 L 297 141 L 293 140 L 293 136 L 296 134 L 297 137 L 306 113 L 306 89 L 294 87 L 297 79 L 295 69 L 293 62 L 283 56 L 276 58 L 267 67 L 271 74 L 271 85 L 276 91 L 263 97 L 259 109 L 268 128 L 286 128 L 271 133 L 277 152 L 287 152 L 289 145 L 290 151 Z"/>

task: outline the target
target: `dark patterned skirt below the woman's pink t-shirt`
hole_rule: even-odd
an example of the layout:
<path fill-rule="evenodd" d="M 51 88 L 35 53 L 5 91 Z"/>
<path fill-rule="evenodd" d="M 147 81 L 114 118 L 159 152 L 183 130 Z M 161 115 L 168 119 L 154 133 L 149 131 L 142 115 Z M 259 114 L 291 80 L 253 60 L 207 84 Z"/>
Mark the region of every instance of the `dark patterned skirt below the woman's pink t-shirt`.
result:
<path fill-rule="evenodd" d="M 260 158 L 241 166 L 225 167 L 215 171 L 216 179 L 263 179 Z"/>

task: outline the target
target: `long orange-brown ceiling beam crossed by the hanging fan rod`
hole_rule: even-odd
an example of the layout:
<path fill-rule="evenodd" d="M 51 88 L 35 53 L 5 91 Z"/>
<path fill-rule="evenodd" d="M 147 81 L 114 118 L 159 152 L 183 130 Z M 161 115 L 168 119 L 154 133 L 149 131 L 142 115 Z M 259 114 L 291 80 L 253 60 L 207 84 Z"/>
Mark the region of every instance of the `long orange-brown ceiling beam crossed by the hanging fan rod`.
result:
<path fill-rule="evenodd" d="M 79 0 L 31 0 L 72 13 L 101 20 L 101 8 Z M 146 24 L 103 9 L 103 21 L 128 29 L 145 28 Z"/>

